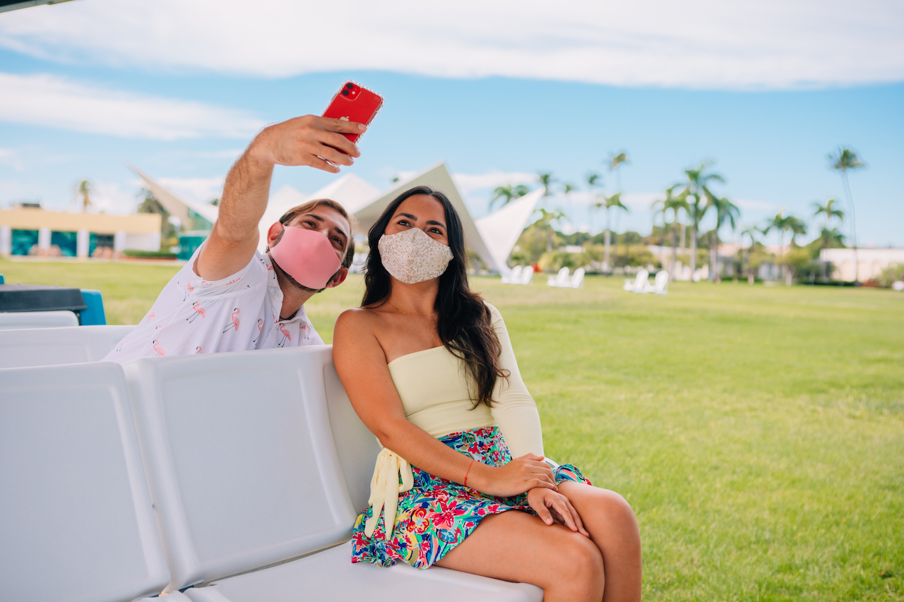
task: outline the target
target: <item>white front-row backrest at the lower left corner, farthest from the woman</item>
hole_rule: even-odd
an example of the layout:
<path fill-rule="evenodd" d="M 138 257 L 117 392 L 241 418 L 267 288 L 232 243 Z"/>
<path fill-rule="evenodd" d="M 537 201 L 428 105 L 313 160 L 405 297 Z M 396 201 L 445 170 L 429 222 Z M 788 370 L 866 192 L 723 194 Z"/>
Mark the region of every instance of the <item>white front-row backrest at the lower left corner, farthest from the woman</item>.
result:
<path fill-rule="evenodd" d="M 0 370 L 0 597 L 123 602 L 168 581 L 121 366 Z"/>

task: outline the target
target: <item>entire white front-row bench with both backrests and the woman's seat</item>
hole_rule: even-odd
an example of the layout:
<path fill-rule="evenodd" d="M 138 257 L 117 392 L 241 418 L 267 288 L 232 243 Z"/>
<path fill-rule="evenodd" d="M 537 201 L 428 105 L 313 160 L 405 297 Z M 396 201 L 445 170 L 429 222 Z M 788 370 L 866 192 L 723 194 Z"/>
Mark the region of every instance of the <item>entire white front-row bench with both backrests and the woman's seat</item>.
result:
<path fill-rule="evenodd" d="M 332 347 L 0 369 L 2 597 L 542 599 L 352 564 L 378 450 Z"/>

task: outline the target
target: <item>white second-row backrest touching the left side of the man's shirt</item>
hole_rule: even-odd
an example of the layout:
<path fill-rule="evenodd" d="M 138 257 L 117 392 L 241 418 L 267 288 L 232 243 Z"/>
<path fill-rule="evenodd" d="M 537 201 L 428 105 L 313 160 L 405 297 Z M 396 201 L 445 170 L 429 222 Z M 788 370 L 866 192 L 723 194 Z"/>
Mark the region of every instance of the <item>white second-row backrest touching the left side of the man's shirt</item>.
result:
<path fill-rule="evenodd" d="M 104 325 L 0 330 L 0 368 L 97 362 L 133 328 Z"/>

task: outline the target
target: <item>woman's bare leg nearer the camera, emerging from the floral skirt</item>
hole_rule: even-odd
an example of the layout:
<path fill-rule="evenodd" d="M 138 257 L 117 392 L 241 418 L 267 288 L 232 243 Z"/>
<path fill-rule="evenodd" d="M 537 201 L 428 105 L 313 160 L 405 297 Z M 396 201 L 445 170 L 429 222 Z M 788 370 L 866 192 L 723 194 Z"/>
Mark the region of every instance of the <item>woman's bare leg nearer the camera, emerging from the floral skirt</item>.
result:
<path fill-rule="evenodd" d="M 543 589 L 543 602 L 599 602 L 605 585 L 593 541 L 516 510 L 485 517 L 437 565 L 532 583 Z"/>

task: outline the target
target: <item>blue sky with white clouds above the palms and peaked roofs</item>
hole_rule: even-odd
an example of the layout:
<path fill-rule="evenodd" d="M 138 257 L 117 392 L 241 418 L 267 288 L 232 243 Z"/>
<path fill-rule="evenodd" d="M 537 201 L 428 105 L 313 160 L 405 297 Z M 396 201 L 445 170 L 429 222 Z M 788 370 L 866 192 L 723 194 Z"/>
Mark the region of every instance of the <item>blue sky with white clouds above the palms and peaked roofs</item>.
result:
<path fill-rule="evenodd" d="M 170 8 L 185 4 L 210 9 L 204 2 Z M 649 231 L 649 203 L 702 160 L 715 162 L 727 180 L 720 192 L 752 224 L 782 208 L 809 218 L 813 202 L 843 200 L 825 155 L 845 145 L 868 164 L 851 176 L 859 240 L 904 246 L 902 11 L 868 5 L 861 23 L 845 24 L 837 38 L 832 3 L 796 14 L 766 4 L 762 14 L 716 14 L 719 31 L 729 31 L 702 47 L 644 14 L 616 14 L 621 29 L 611 14 L 590 15 L 599 16 L 597 29 L 554 14 L 554 31 L 543 29 L 552 26 L 543 14 L 528 14 L 521 25 L 533 36 L 529 45 L 438 15 L 451 19 L 441 44 L 415 39 L 394 48 L 396 25 L 386 24 L 357 36 L 373 52 L 312 57 L 301 49 L 304 60 L 268 47 L 270 32 L 256 25 L 254 45 L 218 50 L 217 28 L 191 29 L 201 18 L 193 14 L 184 15 L 188 25 L 145 21 L 130 32 L 138 16 L 156 18 L 140 3 L 80 0 L 0 14 L 0 205 L 40 199 L 67 207 L 72 183 L 89 178 L 99 206 L 127 212 L 138 184 L 124 162 L 177 192 L 213 198 L 259 127 L 319 113 L 353 79 L 386 104 L 362 139 L 363 157 L 345 172 L 379 188 L 444 159 L 481 215 L 492 186 L 532 184 L 538 170 L 551 171 L 579 192 L 550 202 L 569 213 L 571 227 L 599 230 L 603 217 L 590 216 L 585 175 L 600 172 L 614 191 L 604 161 L 624 150 L 631 212 L 623 229 Z M 278 16 L 262 13 L 255 16 L 264 24 Z M 777 15 L 781 26 L 772 25 Z M 231 23 L 237 18 L 217 16 L 216 24 L 244 31 Z M 743 22 L 758 19 L 758 32 L 746 33 Z M 798 43 L 788 45 L 788 33 Z M 296 43 L 281 39 L 287 48 Z M 820 48 L 827 39 L 836 54 Z M 291 184 L 311 193 L 333 177 L 278 168 L 274 190 Z"/>

